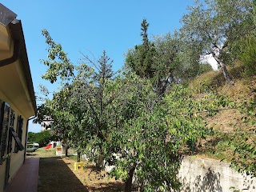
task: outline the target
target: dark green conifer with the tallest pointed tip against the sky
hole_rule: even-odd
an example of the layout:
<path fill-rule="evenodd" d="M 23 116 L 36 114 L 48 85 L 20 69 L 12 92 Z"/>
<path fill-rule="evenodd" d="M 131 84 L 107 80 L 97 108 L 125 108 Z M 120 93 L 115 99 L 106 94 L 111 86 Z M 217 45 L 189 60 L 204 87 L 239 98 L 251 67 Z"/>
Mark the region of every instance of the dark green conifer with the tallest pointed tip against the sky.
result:
<path fill-rule="evenodd" d="M 141 26 L 142 44 L 128 50 L 126 67 L 141 78 L 149 78 L 154 84 L 154 90 L 161 95 L 170 83 L 178 82 L 178 77 L 174 74 L 178 64 L 178 35 L 174 34 L 172 37 L 167 34 L 150 42 L 147 33 L 149 23 L 146 19 L 142 20 Z"/>

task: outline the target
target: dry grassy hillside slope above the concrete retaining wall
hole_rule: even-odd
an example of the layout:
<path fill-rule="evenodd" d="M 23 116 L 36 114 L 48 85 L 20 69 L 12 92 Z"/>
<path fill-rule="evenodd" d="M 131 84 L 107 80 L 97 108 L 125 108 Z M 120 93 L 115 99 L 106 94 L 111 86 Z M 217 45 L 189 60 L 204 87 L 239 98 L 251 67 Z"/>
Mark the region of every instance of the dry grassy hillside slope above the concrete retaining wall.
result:
<path fill-rule="evenodd" d="M 234 85 L 226 84 L 220 71 L 210 71 L 190 82 L 190 88 L 202 94 L 214 90 L 232 103 L 206 118 L 214 134 L 198 143 L 194 155 L 232 162 L 237 170 L 255 170 L 256 158 L 256 76 L 243 75 L 243 66 L 229 68 Z M 248 168 L 249 167 L 249 168 Z"/>

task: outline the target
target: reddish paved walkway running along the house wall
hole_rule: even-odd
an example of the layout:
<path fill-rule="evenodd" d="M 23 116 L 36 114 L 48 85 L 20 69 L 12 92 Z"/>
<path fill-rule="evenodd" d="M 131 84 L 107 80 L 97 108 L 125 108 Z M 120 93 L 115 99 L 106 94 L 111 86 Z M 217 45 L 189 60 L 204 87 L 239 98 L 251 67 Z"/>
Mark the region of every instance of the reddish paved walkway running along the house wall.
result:
<path fill-rule="evenodd" d="M 39 158 L 26 158 L 18 170 L 6 192 L 37 192 L 38 191 Z"/>

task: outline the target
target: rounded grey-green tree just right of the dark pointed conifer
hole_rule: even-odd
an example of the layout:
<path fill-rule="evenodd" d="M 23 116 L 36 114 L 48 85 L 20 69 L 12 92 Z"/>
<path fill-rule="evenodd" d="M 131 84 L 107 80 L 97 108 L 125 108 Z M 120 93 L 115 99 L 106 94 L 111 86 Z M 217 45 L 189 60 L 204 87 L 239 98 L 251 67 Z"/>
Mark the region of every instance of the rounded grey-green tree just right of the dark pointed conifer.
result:
<path fill-rule="evenodd" d="M 164 34 L 154 37 L 156 57 L 155 82 L 161 93 L 170 85 L 188 82 L 201 74 L 202 65 L 198 50 L 184 42 L 181 34 Z"/>

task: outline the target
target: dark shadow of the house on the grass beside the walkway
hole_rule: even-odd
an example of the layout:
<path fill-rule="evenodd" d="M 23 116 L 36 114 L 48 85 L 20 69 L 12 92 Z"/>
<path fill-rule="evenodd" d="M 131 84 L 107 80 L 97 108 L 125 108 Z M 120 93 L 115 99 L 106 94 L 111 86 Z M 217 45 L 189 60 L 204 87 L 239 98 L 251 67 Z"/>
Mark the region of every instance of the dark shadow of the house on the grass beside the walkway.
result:
<path fill-rule="evenodd" d="M 60 157 L 40 158 L 38 192 L 88 192 Z"/>

